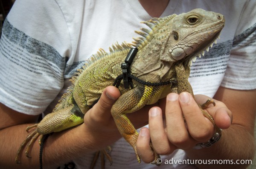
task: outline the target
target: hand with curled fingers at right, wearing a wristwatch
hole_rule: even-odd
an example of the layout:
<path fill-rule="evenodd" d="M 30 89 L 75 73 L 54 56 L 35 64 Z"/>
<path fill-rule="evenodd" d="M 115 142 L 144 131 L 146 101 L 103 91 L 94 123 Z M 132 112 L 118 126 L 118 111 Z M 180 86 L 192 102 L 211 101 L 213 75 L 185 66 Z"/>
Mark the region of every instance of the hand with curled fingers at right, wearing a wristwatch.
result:
<path fill-rule="evenodd" d="M 195 99 L 202 104 L 210 98 L 196 95 Z M 227 129 L 232 122 L 232 113 L 224 103 L 214 101 L 216 105 L 209 105 L 205 111 L 212 115 L 218 127 Z M 166 97 L 166 107 L 162 109 L 165 112 L 160 107 L 149 110 L 149 129 L 142 128 L 137 139 L 137 151 L 145 163 L 154 160 L 150 140 L 158 154 L 168 155 L 175 149 L 192 149 L 198 143 L 207 142 L 215 133 L 213 124 L 204 117 L 198 104 L 187 92 L 180 95 L 170 93 Z"/>

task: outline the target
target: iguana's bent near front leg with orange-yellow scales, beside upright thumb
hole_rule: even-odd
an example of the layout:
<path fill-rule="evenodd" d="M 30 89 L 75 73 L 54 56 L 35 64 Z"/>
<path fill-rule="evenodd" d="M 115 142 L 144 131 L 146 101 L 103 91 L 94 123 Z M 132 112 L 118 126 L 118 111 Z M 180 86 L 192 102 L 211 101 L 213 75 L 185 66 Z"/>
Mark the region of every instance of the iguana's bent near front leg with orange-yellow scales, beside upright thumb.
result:
<path fill-rule="evenodd" d="M 122 137 L 125 138 L 125 140 L 134 148 L 137 161 L 139 163 L 140 156 L 138 155 L 136 148 L 138 132 L 134 128 L 133 124 L 131 124 L 131 121 L 127 118 L 126 113 L 132 113 L 141 109 L 146 104 L 153 104 L 157 102 L 162 90 L 163 87 L 151 87 L 144 85 L 137 86 L 120 96 L 111 109 L 111 114 L 116 122 L 119 132 L 121 133 Z M 153 149 L 152 144 L 150 146 Z M 155 151 L 154 154 L 156 161 L 156 159 L 160 158 L 160 156 Z"/>

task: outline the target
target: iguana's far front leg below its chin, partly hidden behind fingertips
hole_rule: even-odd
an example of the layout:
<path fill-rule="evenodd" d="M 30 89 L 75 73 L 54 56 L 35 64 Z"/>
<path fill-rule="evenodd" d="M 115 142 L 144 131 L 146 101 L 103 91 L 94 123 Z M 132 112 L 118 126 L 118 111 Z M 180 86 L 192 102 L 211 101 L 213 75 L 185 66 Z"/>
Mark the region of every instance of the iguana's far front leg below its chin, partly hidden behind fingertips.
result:
<path fill-rule="evenodd" d="M 190 74 L 190 67 L 186 67 L 186 69 L 185 69 L 183 66 L 183 63 L 180 62 L 175 65 L 175 70 L 176 70 L 176 74 L 177 74 L 177 91 L 178 91 L 178 93 L 189 92 L 195 99 L 192 87 L 188 81 L 189 74 Z M 216 126 L 212 116 L 209 113 L 207 113 L 207 111 L 204 110 L 209 104 L 213 104 L 215 106 L 215 102 L 211 99 L 208 99 L 204 104 L 198 104 L 198 106 L 199 106 L 201 112 L 203 113 L 203 115 L 206 118 L 208 118 L 209 121 L 212 122 L 216 132 L 221 134 L 221 129 Z"/>

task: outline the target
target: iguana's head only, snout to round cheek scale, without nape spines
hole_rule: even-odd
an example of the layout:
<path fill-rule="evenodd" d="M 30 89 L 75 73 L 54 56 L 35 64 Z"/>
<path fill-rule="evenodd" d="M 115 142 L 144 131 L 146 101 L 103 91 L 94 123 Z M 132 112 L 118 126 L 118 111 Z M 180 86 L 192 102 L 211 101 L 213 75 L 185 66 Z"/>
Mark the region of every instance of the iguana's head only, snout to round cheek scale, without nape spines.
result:
<path fill-rule="evenodd" d="M 172 20 L 172 31 L 166 43 L 164 53 L 169 52 L 169 58 L 163 60 L 173 61 L 185 58 L 193 59 L 204 55 L 204 50 L 219 37 L 224 27 L 224 16 L 215 12 L 194 9 L 183 13 Z"/>

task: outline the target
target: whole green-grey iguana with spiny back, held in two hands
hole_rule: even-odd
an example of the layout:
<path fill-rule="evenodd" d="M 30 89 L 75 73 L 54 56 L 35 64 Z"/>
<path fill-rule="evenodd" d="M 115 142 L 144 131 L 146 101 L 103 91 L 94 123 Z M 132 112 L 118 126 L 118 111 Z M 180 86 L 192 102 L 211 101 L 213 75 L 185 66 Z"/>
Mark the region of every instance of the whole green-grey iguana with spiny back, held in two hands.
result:
<path fill-rule="evenodd" d="M 208 51 L 213 42 L 216 43 L 224 22 L 221 14 L 194 9 L 188 13 L 142 22 L 149 28 L 135 31 L 141 37 L 134 38 L 134 42 L 123 42 L 121 45 L 116 43 L 109 48 L 110 53 L 99 49 L 73 76 L 73 86 L 62 96 L 52 113 L 46 115 L 40 123 L 27 128 L 28 131 L 35 127 L 18 149 L 15 161 L 19 163 L 20 153 L 26 145 L 28 156 L 30 147 L 39 135 L 59 132 L 83 123 L 84 114 L 101 96 L 105 87 L 113 85 L 116 78 L 122 75 L 122 70 L 126 69 L 129 77 L 135 80 L 129 80 L 128 88 L 123 82 L 119 84 L 122 95 L 113 104 L 111 115 L 122 137 L 134 148 L 140 163 L 136 149 L 138 133 L 126 114 L 147 104 L 154 104 L 171 92 L 187 91 L 193 95 L 188 82 L 192 61 L 204 55 L 204 51 Z M 130 67 L 120 68 L 134 47 L 138 51 Z M 153 85 L 165 82 L 166 85 Z M 198 106 L 214 124 L 215 130 L 221 132 L 212 116 L 204 111 L 211 103 L 214 102 L 208 100 Z M 152 144 L 151 147 L 154 150 Z M 157 158 L 160 156 L 155 152 L 155 164 Z"/>

